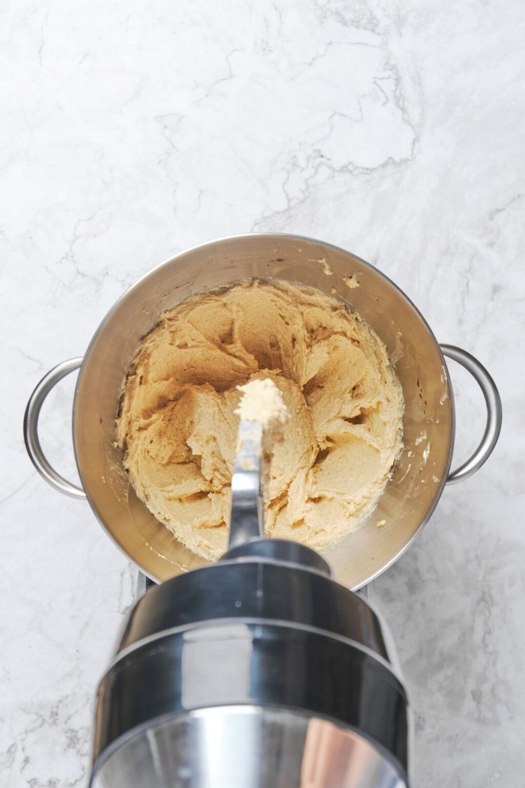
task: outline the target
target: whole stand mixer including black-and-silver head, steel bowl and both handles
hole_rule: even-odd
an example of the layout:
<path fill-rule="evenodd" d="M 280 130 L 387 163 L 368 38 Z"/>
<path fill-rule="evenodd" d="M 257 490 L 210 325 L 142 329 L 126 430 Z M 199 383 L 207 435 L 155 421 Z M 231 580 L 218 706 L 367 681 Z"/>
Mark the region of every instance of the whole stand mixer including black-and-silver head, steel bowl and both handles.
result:
<path fill-rule="evenodd" d="M 206 565 L 130 491 L 116 445 L 123 377 L 160 315 L 203 290 L 253 278 L 337 292 L 381 337 L 403 389 L 404 448 L 375 511 L 387 525 L 369 518 L 329 553 L 331 567 L 309 548 L 263 538 L 257 447 L 252 469 L 235 469 L 229 549 Z M 479 446 L 453 470 L 445 356 L 475 378 L 487 414 Z M 51 466 L 38 435 L 47 394 L 79 368 L 72 426 L 80 486 Z M 135 604 L 102 679 L 92 788 L 406 786 L 405 690 L 383 624 L 349 588 L 365 586 L 409 548 L 446 485 L 486 462 L 500 429 L 497 386 L 478 359 L 440 346 L 392 281 L 330 243 L 231 236 L 146 273 L 109 310 L 84 358 L 43 377 L 24 418 L 43 478 L 87 500 L 124 555 L 161 582 Z"/>

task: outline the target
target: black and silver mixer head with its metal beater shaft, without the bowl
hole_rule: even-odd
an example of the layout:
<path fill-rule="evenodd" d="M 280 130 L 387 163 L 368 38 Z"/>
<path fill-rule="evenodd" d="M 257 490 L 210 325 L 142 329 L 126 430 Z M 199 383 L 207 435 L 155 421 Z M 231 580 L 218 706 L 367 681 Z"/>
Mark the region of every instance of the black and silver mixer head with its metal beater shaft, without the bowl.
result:
<path fill-rule="evenodd" d="M 241 419 L 229 548 L 153 585 L 98 689 L 91 788 L 405 788 L 383 623 L 328 563 L 264 538 L 264 424 Z"/>

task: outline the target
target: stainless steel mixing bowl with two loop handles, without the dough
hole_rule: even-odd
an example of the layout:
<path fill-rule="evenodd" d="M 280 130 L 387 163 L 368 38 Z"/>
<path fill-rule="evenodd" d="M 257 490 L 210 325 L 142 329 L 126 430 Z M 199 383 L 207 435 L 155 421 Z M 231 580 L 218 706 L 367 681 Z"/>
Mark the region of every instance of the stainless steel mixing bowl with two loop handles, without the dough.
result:
<path fill-rule="evenodd" d="M 501 401 L 481 364 L 459 348 L 440 348 L 422 315 L 395 284 L 329 243 L 286 235 L 234 236 L 184 251 L 147 273 L 109 311 L 84 358 L 58 365 L 35 388 L 24 419 L 29 455 L 56 489 L 87 498 L 116 545 L 150 578 L 166 580 L 207 563 L 176 541 L 135 496 L 115 448 L 115 415 L 124 374 L 161 312 L 205 288 L 250 277 L 298 281 L 328 294 L 335 288 L 336 296 L 385 342 L 401 381 L 405 417 L 399 462 L 368 521 L 327 556 L 338 580 L 357 589 L 401 556 L 430 518 L 447 483 L 467 478 L 482 466 L 501 428 Z M 443 354 L 474 375 L 487 405 L 479 448 L 453 474 L 453 392 Z M 73 443 L 81 489 L 46 461 L 37 432 L 47 393 L 78 367 Z M 384 525 L 376 527 L 383 520 Z"/>

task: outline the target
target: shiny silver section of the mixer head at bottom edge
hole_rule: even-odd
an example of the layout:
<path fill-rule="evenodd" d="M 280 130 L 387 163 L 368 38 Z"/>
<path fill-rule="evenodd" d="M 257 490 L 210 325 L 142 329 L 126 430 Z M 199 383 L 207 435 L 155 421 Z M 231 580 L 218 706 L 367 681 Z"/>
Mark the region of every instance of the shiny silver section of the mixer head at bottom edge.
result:
<path fill-rule="evenodd" d="M 291 709 L 205 708 L 135 732 L 91 788 L 405 788 L 362 736 Z"/>

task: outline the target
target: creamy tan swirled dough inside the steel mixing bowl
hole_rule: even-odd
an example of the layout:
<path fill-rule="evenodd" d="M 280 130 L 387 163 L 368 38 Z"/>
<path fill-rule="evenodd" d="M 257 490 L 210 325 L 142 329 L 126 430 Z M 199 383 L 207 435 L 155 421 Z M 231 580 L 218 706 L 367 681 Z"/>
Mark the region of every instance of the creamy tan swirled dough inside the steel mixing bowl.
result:
<path fill-rule="evenodd" d="M 326 548 L 368 515 L 401 449 L 403 397 L 359 315 L 285 281 L 179 304 L 142 341 L 117 438 L 138 496 L 191 551 L 227 549 L 241 392 L 269 378 L 290 413 L 264 489 L 268 536 Z"/>

